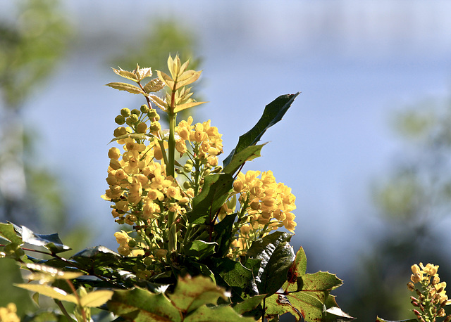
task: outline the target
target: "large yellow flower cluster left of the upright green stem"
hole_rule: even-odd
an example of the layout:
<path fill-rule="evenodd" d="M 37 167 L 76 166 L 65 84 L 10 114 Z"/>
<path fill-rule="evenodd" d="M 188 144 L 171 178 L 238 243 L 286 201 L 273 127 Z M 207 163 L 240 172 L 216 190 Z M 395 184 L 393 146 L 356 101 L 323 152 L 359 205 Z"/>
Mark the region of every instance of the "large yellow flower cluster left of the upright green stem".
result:
<path fill-rule="evenodd" d="M 178 214 L 183 212 L 179 204 L 188 202 L 187 195 L 172 176 L 166 176 L 166 166 L 154 162 L 162 158 L 160 146 L 154 141 L 145 146 L 131 138 L 118 140 L 118 143 L 123 144 L 124 153 L 118 148 L 109 150 L 106 178 L 109 189 L 102 196 L 115 202 L 112 214 L 118 217 L 116 221 L 132 225 L 138 219 L 147 221 L 159 217 L 168 208 Z"/>

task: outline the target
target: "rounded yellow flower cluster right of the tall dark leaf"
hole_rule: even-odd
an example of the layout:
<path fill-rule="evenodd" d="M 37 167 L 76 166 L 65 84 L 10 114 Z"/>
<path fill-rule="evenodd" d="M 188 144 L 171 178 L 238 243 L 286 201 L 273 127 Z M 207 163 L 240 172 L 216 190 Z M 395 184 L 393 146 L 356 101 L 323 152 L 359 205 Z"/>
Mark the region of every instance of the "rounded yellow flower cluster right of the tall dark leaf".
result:
<path fill-rule="evenodd" d="M 240 204 L 247 208 L 247 222 L 250 226 L 242 228 L 245 233 L 253 228 L 271 226 L 273 229 L 285 226 L 288 231 L 295 231 L 296 197 L 291 188 L 284 183 L 277 183 L 273 172 L 261 174 L 259 171 L 240 172 L 233 183 L 235 193 L 240 193 Z"/>

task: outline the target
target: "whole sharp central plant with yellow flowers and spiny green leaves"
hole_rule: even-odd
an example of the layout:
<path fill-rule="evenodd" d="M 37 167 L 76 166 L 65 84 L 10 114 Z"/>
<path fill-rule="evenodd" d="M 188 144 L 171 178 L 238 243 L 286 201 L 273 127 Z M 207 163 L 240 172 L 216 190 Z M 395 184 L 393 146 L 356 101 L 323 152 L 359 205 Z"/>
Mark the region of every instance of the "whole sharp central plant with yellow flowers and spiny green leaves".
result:
<path fill-rule="evenodd" d="M 303 248 L 295 253 L 290 245 L 297 225 L 291 189 L 271 171 L 242 172 L 260 156 L 266 129 L 299 93 L 266 105 L 219 165 L 222 135 L 211 120 L 177 120 L 178 112 L 204 103 L 192 98 L 190 86 L 201 72 L 188 64 L 169 56 L 169 72 L 158 70 L 154 78 L 149 67 L 113 68 L 134 84 L 107 84 L 145 100 L 115 117 L 111 142 L 118 146 L 108 151 L 109 188 L 102 198 L 121 225 L 114 233 L 118 252 L 89 247 L 65 259 L 59 254 L 70 247 L 57 234 L 0 223 L 6 240 L 0 257 L 32 272 L 29 283 L 17 286 L 34 298 L 53 298 L 61 310 L 30 318 L 47 321 L 62 312 L 68 321 L 95 321 L 101 317 L 92 308 L 100 307 L 126 321 L 278 321 L 287 313 L 296 321 L 351 321 L 330 295 L 340 278 L 307 273 Z M 75 307 L 73 314 L 63 302 Z"/>

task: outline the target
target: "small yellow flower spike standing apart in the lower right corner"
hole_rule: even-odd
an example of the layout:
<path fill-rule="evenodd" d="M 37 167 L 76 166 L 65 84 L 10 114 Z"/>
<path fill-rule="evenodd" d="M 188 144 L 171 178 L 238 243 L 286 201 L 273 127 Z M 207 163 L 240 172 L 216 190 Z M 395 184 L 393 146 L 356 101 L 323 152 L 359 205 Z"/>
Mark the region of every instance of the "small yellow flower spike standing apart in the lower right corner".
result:
<path fill-rule="evenodd" d="M 437 271 L 438 265 L 412 265 L 412 276 L 407 288 L 418 295 L 418 298 L 410 298 L 412 305 L 419 308 L 413 310 L 419 321 L 435 321 L 435 317 L 445 316 L 443 307 L 451 304 L 446 295 L 446 282 L 440 282 Z M 419 288 L 415 288 L 417 283 L 420 284 Z M 451 316 L 447 316 L 445 321 L 451 321 Z"/>

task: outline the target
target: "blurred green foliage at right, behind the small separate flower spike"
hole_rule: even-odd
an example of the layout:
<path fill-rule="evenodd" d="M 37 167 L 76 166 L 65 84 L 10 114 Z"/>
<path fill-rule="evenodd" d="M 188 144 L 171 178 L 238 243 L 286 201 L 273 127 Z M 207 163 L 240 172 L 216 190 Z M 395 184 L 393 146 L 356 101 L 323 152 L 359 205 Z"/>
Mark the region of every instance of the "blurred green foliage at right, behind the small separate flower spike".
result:
<path fill-rule="evenodd" d="M 369 235 L 373 247 L 354 263 L 353 281 L 345 278 L 350 283 L 339 296 L 359 320 L 371 321 L 376 314 L 414 318 L 412 292 L 406 287 L 413 264 L 440 265 L 441 280 L 451 281 L 446 269 L 450 250 L 443 242 L 443 224 L 451 210 L 450 107 L 449 99 L 427 100 L 392 119 L 402 145 L 390 174 L 371 191 L 382 230 Z"/>

